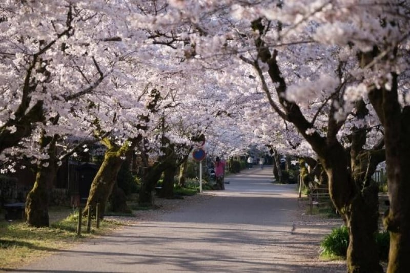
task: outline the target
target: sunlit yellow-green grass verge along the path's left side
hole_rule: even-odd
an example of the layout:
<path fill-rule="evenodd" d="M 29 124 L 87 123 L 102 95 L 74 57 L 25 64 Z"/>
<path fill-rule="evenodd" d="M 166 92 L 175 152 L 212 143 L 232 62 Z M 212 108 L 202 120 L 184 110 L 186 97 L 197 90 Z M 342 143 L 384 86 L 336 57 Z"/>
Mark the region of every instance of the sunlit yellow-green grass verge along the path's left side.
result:
<path fill-rule="evenodd" d="M 29 227 L 23 221 L 9 222 L 0 214 L 0 270 L 23 266 L 121 226 L 119 222 L 101 221 L 96 229 L 92 221 L 91 232 L 87 233 L 87 218 L 84 218 L 82 233 L 77 236 L 78 216 L 70 208 L 51 209 L 49 214 L 51 225 L 45 228 Z"/>

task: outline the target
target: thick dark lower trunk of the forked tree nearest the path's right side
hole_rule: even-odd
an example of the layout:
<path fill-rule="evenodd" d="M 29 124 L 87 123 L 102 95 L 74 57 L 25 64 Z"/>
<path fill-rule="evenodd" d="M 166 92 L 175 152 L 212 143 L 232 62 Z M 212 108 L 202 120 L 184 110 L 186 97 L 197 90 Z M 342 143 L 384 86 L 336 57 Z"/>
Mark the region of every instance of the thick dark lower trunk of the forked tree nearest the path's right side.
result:
<path fill-rule="evenodd" d="M 348 157 L 339 143 L 321 162 L 329 179 L 331 200 L 349 230 L 348 272 L 383 272 L 374 238 L 378 230 L 377 187 L 371 184 L 359 188 L 355 184 L 348 168 Z"/>

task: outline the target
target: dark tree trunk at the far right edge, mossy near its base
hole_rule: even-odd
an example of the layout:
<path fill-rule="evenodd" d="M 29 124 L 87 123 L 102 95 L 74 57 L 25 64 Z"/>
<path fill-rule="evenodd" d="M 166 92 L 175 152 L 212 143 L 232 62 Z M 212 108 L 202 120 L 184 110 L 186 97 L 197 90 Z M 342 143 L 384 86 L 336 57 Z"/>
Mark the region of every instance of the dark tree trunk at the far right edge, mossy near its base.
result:
<path fill-rule="evenodd" d="M 385 228 L 390 232 L 388 273 L 407 272 L 410 268 L 410 106 L 401 107 L 398 75 L 391 74 L 391 90 L 374 89 L 369 94 L 384 127 L 390 201 L 388 214 L 383 219 Z"/>

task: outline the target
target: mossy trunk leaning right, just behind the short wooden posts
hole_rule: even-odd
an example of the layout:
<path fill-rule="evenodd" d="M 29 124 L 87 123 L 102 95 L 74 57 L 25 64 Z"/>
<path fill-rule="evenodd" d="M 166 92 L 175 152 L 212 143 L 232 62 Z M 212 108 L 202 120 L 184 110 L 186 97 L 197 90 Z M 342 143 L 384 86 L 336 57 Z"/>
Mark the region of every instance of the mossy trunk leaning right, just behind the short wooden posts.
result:
<path fill-rule="evenodd" d="M 83 212 L 84 215 L 88 214 L 88 209 L 92 208 L 92 213 L 95 215 L 96 204 L 99 203 L 100 218 L 104 218 L 104 213 L 108 199 L 111 195 L 114 184 L 117 181 L 117 174 L 121 168 L 124 159 L 122 157 L 125 154 L 126 144 L 121 148 L 109 143 L 109 140 L 103 142 L 109 148 L 104 154 L 104 160 L 98 169 L 97 174 L 91 184 L 90 194 L 88 196 L 87 204 Z"/>

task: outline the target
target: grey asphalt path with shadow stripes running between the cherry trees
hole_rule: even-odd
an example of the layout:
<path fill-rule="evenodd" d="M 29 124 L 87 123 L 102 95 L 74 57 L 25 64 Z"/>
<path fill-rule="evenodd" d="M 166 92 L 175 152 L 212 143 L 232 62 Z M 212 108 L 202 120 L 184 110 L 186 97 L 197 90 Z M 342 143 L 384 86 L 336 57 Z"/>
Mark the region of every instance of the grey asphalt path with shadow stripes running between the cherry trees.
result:
<path fill-rule="evenodd" d="M 292 232 L 295 185 L 272 183 L 272 168 L 225 179 L 213 198 L 93 239 L 13 272 L 302 272 L 312 257 Z M 312 236 L 317 235 L 312 233 Z M 316 258 L 315 258 L 316 259 Z M 316 268 L 319 272 L 319 267 Z M 323 268 L 322 268 L 323 269 Z M 320 270 L 322 272 L 322 270 Z"/>

